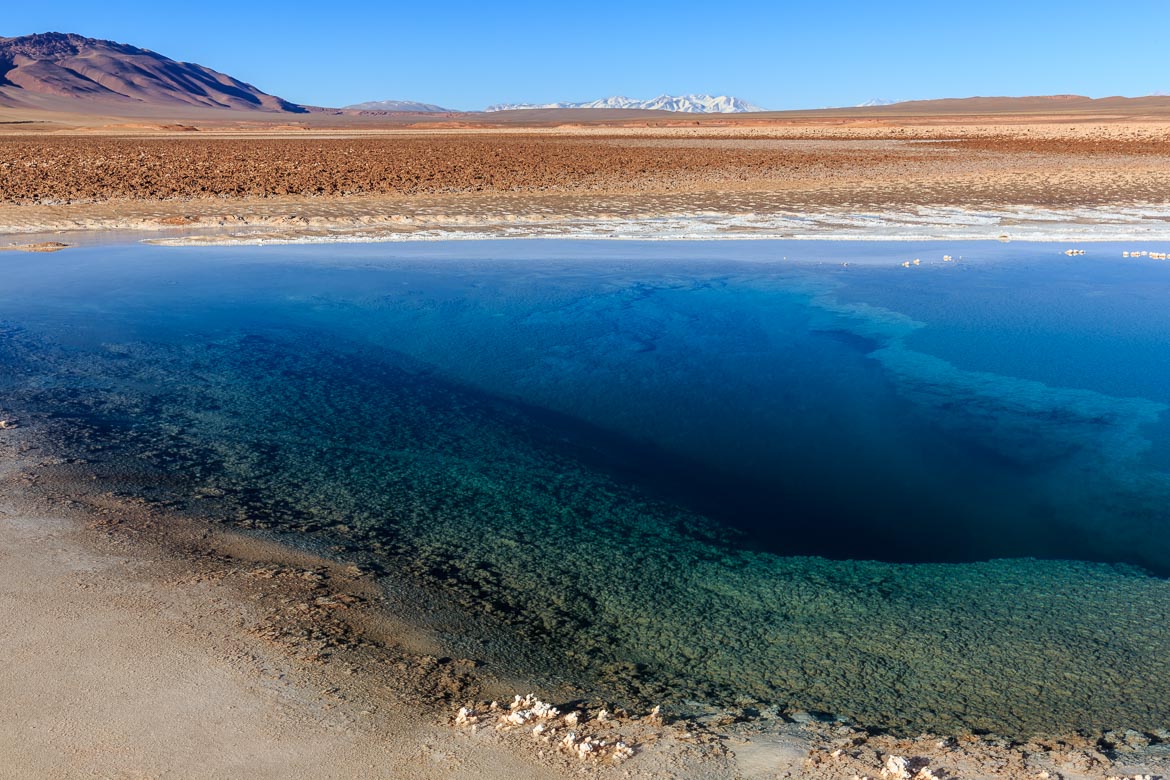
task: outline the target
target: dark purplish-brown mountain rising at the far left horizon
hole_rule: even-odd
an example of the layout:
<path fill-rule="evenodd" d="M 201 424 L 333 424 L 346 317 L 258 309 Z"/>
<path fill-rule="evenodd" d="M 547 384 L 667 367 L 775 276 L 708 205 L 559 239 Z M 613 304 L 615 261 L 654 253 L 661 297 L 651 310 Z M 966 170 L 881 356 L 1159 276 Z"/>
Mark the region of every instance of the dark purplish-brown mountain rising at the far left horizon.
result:
<path fill-rule="evenodd" d="M 111 105 L 304 112 L 252 84 L 149 49 L 71 33 L 0 37 L 0 105 L 37 105 L 41 96 Z"/>

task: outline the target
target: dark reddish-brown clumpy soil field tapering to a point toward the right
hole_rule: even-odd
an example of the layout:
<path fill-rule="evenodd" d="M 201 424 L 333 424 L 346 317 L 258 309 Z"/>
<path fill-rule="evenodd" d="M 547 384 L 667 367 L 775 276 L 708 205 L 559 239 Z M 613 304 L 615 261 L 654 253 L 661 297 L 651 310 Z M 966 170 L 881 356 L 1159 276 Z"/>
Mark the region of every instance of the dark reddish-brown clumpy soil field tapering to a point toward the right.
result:
<path fill-rule="evenodd" d="M 6 202 L 273 195 L 695 189 L 701 184 L 811 180 L 930 163 L 937 150 L 702 149 L 541 136 L 128 139 L 0 143 Z"/>

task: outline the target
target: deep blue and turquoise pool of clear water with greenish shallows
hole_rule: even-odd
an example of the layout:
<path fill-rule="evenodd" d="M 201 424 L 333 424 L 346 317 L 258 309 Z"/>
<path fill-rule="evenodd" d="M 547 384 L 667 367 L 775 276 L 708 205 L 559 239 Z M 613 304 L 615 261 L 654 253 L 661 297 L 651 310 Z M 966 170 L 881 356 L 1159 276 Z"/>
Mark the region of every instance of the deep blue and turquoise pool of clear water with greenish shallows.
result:
<path fill-rule="evenodd" d="M 622 700 L 1165 727 L 1170 265 L 961 249 L 6 257 L 0 408 L 119 490 L 407 571 Z"/>

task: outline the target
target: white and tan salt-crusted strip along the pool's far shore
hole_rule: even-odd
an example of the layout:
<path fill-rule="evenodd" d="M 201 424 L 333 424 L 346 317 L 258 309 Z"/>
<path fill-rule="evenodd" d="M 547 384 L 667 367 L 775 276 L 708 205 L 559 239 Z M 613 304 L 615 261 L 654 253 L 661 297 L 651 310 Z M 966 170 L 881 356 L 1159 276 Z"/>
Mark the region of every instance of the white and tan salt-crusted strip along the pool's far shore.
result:
<path fill-rule="evenodd" d="M 274 205 L 267 205 L 273 207 Z M 487 240 L 581 241 L 839 241 L 932 242 L 1019 241 L 1045 243 L 1168 243 L 1170 203 L 1116 207 L 996 209 L 914 207 L 911 209 L 821 209 L 798 213 L 706 210 L 617 215 L 553 214 L 515 216 L 507 212 L 434 213 L 414 208 L 393 214 L 393 203 L 366 203 L 367 214 L 338 214 L 324 201 L 291 214 L 257 213 L 256 203 L 220 205 L 228 214 L 192 214 L 191 203 L 160 202 L 154 215 L 99 215 L 116 207 L 103 203 L 91 218 L 84 207 L 55 220 L 5 221 L 0 207 L 0 251 L 56 251 L 69 240 L 97 242 L 111 237 L 165 247 L 243 247 L 332 243 L 405 243 Z M 233 210 L 234 209 L 234 210 Z M 276 207 L 280 212 L 280 207 Z M 173 212 L 171 215 L 166 213 Z M 428 212 L 428 213 L 424 213 Z M 163 214 L 163 215 L 160 215 Z M 181 226 L 178 222 L 181 221 Z M 1148 247 L 1143 247 L 1149 249 Z"/>

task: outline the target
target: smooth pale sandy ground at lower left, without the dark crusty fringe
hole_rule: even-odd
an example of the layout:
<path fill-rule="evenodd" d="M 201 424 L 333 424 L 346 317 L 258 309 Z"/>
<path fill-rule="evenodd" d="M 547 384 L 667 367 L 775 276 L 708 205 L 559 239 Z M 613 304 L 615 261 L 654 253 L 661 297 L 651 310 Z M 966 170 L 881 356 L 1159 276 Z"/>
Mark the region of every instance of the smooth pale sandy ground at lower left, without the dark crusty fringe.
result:
<path fill-rule="evenodd" d="M 374 712 L 347 700 L 329 670 L 241 633 L 253 616 L 229 587 L 19 503 L 14 463 L 0 467 L 0 776 L 560 774 L 392 697 Z"/>

